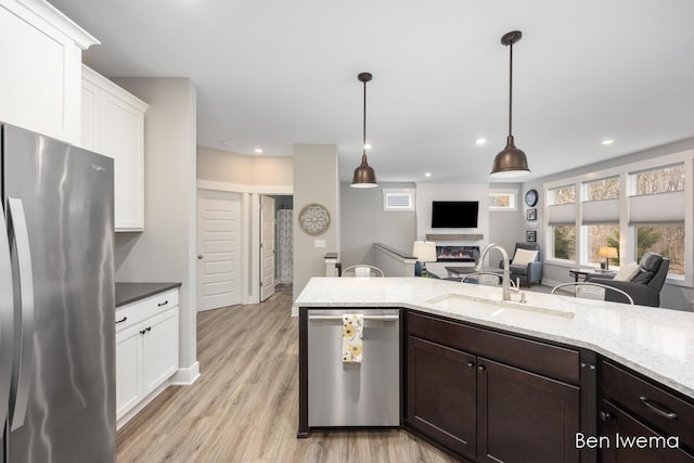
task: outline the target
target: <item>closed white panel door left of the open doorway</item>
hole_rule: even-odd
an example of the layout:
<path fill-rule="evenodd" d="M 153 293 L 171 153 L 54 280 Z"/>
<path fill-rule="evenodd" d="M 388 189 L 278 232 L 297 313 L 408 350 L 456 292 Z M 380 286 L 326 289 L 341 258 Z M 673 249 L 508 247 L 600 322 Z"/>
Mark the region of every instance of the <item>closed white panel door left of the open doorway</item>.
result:
<path fill-rule="evenodd" d="M 241 195 L 197 196 L 197 310 L 241 304 Z"/>

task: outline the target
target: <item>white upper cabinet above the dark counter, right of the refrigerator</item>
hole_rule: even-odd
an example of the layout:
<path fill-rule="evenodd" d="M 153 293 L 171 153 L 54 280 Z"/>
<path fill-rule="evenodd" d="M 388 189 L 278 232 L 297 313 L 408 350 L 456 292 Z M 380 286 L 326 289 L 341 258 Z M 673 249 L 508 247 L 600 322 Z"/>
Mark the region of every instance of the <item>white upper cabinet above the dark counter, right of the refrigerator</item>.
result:
<path fill-rule="evenodd" d="M 79 145 L 114 159 L 116 231 L 142 231 L 147 104 L 87 66 L 81 103 Z"/>

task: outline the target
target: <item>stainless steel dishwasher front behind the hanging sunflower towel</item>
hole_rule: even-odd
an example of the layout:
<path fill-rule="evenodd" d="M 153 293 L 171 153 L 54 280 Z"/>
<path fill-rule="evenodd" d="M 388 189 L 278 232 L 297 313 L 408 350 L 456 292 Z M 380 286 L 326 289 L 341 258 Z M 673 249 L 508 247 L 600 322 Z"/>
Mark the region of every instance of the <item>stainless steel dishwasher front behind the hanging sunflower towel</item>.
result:
<path fill-rule="evenodd" d="M 363 314 L 361 363 L 343 363 L 343 313 Z M 400 311 L 308 311 L 308 425 L 400 425 Z"/>

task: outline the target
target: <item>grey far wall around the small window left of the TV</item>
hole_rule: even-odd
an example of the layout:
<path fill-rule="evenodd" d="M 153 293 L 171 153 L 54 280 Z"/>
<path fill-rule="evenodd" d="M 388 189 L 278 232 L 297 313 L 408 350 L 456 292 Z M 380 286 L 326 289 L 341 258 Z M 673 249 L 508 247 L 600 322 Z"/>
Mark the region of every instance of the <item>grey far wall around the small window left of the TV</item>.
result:
<path fill-rule="evenodd" d="M 383 210 L 383 189 L 415 189 L 414 183 L 378 183 L 377 188 L 357 189 L 340 184 L 343 268 L 358 263 L 374 266 L 374 243 L 383 243 L 406 254 L 412 253 L 416 236 L 414 210 Z"/>

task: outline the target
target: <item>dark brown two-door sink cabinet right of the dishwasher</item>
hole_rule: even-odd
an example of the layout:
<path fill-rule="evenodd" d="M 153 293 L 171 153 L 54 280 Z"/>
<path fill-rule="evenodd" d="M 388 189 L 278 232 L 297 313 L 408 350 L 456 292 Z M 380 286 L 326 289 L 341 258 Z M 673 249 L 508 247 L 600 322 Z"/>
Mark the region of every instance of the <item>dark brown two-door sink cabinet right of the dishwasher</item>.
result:
<path fill-rule="evenodd" d="M 477 461 L 578 462 L 578 353 L 410 312 L 408 426 Z"/>

